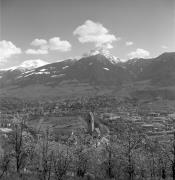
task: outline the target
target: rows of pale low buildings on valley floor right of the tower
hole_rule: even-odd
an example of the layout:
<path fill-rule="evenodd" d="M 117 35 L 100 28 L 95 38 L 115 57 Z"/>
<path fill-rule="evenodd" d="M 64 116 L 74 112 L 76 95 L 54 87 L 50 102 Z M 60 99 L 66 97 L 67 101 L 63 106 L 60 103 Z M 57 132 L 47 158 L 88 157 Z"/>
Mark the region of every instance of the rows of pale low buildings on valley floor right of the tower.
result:
<path fill-rule="evenodd" d="M 117 113 L 104 113 L 103 119 L 115 124 L 115 122 L 132 122 L 148 135 L 171 134 L 175 129 L 175 113 L 150 112 L 144 116 L 135 113 L 120 111 Z"/>

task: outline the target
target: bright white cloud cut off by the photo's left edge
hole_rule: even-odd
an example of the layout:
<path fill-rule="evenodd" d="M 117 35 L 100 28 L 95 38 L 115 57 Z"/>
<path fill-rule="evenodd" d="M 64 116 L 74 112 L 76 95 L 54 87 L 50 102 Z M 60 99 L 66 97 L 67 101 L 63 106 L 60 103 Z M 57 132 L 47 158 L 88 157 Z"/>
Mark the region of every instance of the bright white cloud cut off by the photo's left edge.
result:
<path fill-rule="evenodd" d="M 16 47 L 11 41 L 0 41 L 0 62 L 5 62 L 12 55 L 21 53 L 21 49 Z"/>

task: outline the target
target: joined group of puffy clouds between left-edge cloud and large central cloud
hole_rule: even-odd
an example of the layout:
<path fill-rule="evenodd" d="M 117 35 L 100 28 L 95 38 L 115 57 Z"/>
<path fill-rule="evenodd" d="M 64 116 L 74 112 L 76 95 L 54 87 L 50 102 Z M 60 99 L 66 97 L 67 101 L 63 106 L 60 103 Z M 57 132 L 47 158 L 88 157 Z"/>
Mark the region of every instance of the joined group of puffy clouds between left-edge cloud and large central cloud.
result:
<path fill-rule="evenodd" d="M 71 44 L 66 40 L 61 40 L 60 37 L 50 38 L 49 41 L 45 39 L 34 39 L 31 42 L 32 46 L 38 47 L 38 49 L 27 49 L 26 54 L 48 54 L 50 51 L 66 52 L 71 50 Z"/>

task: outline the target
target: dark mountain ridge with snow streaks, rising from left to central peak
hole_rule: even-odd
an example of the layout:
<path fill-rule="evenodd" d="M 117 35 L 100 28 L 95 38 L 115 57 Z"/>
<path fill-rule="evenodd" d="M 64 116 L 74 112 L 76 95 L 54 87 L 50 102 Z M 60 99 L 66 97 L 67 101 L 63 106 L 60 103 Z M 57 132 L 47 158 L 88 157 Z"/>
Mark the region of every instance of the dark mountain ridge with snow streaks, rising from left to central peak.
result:
<path fill-rule="evenodd" d="M 44 84 L 57 86 L 63 81 L 77 81 L 93 85 L 121 85 L 129 80 L 130 75 L 126 68 L 107 59 L 102 54 L 97 54 L 80 60 L 69 59 L 52 63 L 21 73 L 18 70 L 8 71 L 0 82 L 1 85 Z"/>

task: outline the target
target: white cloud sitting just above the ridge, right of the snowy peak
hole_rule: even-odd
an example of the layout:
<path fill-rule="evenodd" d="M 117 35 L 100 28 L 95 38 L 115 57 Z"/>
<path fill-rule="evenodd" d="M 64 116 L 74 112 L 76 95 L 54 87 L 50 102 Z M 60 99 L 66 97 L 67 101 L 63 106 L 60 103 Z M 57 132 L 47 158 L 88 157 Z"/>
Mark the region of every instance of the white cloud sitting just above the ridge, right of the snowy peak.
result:
<path fill-rule="evenodd" d="M 135 51 L 128 54 L 129 59 L 133 58 L 147 58 L 150 56 L 150 52 L 144 49 L 137 48 Z"/>

